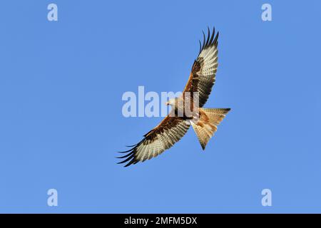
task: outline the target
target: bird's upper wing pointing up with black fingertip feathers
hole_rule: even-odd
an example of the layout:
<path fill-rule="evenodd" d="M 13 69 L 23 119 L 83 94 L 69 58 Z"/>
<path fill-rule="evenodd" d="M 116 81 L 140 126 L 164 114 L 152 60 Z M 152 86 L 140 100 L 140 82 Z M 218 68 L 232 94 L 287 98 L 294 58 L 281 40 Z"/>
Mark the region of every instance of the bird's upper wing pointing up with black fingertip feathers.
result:
<path fill-rule="evenodd" d="M 200 53 L 194 61 L 190 78 L 183 90 L 183 93 L 190 92 L 191 95 L 193 92 L 198 92 L 199 107 L 203 107 L 208 100 L 218 68 L 218 33 L 215 36 L 215 28 L 213 28 L 212 36 L 210 36 L 208 28 L 208 38 L 205 38 L 204 32 L 203 36 L 203 45 L 200 44 Z"/>

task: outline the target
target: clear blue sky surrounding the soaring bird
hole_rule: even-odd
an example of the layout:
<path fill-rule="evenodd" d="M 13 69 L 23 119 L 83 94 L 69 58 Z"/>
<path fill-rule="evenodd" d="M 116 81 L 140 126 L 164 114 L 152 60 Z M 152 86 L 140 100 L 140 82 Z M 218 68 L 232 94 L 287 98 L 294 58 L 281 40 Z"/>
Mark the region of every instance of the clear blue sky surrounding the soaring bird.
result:
<path fill-rule="evenodd" d="M 1 2 L 0 212 L 321 212 L 320 11 L 320 1 Z M 207 26 L 220 38 L 205 107 L 232 108 L 215 137 L 203 152 L 189 130 L 157 158 L 117 165 L 116 151 L 162 119 L 124 118 L 121 96 L 182 90 Z M 58 207 L 46 204 L 51 188 Z"/>

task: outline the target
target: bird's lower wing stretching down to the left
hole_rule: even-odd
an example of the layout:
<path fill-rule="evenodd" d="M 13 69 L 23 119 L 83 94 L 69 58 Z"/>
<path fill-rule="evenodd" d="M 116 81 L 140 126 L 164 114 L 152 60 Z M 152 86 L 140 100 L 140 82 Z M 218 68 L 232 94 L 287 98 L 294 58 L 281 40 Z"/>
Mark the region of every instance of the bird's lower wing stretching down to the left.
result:
<path fill-rule="evenodd" d="M 178 142 L 190 128 L 183 118 L 166 116 L 163 121 L 153 128 L 149 133 L 144 135 L 143 140 L 133 145 L 128 154 L 118 157 L 125 160 L 118 162 L 128 162 L 125 167 L 137 162 L 144 162 L 152 157 L 160 155 L 162 152 L 172 147 L 175 142 Z"/>

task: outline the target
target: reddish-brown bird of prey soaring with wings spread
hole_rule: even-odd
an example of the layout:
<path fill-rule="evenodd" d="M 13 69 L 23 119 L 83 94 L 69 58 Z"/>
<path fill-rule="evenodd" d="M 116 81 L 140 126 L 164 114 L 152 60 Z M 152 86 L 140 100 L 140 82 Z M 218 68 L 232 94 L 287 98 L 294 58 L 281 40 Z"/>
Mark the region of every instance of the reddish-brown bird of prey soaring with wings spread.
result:
<path fill-rule="evenodd" d="M 203 108 L 215 83 L 215 74 L 218 68 L 218 33 L 215 35 L 213 28 L 210 35 L 205 38 L 203 32 L 203 44 L 200 43 L 198 58 L 193 63 L 190 77 L 178 98 L 168 100 L 166 105 L 171 106 L 170 113 L 155 128 L 143 135 L 143 140 L 131 149 L 123 151 L 126 155 L 118 157 L 123 160 L 120 163 L 128 165 L 144 162 L 172 147 L 175 142 L 183 138 L 185 133 L 193 126 L 203 150 L 208 140 L 217 130 L 218 124 L 225 118 L 230 108 Z M 190 94 L 187 96 L 186 94 Z M 197 102 L 195 102 L 197 98 Z M 191 115 L 185 115 L 185 105 L 190 105 Z M 197 103 L 197 105 L 196 105 Z"/>

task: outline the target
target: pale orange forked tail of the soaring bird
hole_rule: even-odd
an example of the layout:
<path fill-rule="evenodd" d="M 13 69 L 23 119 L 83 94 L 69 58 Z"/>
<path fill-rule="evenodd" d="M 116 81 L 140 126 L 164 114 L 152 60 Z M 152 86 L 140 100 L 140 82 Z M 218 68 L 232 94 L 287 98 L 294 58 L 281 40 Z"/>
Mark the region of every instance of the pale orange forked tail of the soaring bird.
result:
<path fill-rule="evenodd" d="M 205 150 L 208 141 L 218 130 L 217 126 L 229 111 L 230 108 L 200 108 L 198 122 L 191 121 L 203 150 Z"/>

